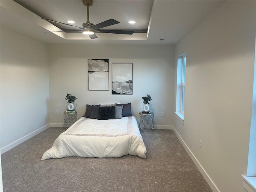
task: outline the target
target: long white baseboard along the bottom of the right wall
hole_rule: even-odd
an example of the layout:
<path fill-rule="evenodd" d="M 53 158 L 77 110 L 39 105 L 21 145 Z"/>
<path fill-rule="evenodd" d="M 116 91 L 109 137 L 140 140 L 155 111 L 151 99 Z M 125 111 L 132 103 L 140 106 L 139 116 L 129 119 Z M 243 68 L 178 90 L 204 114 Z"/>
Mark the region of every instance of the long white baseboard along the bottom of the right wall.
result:
<path fill-rule="evenodd" d="M 192 151 L 188 148 L 188 146 L 186 145 L 186 143 L 184 142 L 184 140 L 180 137 L 180 134 L 178 134 L 178 132 L 176 131 L 176 129 L 173 127 L 173 131 L 175 133 L 175 135 L 177 136 L 177 138 L 180 140 L 182 146 L 185 148 L 186 152 L 188 153 L 188 155 L 190 156 L 190 158 L 193 160 L 194 164 L 196 164 L 196 167 L 199 169 L 200 173 L 202 174 L 202 176 L 204 177 L 204 179 L 206 180 L 206 182 L 208 183 L 208 185 L 210 186 L 210 188 L 214 191 L 214 192 L 220 192 L 220 190 L 218 189 L 218 187 L 214 184 L 214 182 L 212 181 L 212 179 L 210 178 L 210 176 L 207 174 L 207 172 L 204 170 L 204 168 L 202 167 L 202 165 L 200 164 L 200 162 L 197 160 L 197 158 L 194 156 L 194 154 L 192 153 Z"/>

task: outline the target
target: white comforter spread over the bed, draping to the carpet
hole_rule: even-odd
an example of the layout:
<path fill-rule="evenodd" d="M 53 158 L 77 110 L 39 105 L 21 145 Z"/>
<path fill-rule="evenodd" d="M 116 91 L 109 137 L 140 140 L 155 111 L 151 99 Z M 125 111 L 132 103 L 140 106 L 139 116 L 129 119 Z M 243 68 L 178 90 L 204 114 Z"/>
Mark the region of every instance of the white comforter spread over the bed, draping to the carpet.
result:
<path fill-rule="evenodd" d="M 146 158 L 136 118 L 96 120 L 81 117 L 60 134 L 52 148 L 44 152 L 42 160 L 78 157 L 121 157 L 137 155 Z"/>

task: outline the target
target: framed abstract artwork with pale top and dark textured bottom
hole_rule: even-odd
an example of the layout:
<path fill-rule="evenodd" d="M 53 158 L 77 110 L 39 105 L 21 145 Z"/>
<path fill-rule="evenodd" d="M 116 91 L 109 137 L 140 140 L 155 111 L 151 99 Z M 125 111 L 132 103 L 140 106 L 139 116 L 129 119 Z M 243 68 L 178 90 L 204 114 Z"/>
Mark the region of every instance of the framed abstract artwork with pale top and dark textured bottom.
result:
<path fill-rule="evenodd" d="M 132 63 L 112 63 L 112 94 L 132 94 Z"/>

